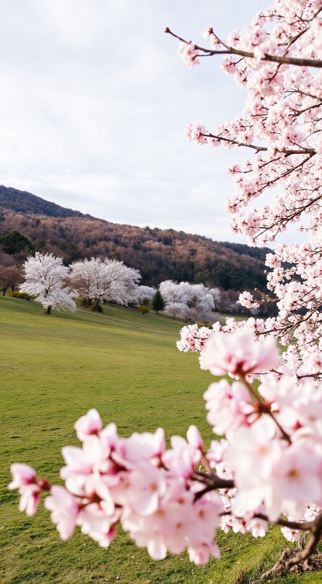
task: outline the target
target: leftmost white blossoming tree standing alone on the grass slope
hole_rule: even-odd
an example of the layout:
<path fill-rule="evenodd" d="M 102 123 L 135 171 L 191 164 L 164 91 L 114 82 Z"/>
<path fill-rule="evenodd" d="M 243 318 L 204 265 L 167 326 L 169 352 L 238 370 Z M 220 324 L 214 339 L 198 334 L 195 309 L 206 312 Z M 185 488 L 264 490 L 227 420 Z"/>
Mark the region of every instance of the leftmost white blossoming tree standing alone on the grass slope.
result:
<path fill-rule="evenodd" d="M 51 308 L 76 310 L 72 293 L 66 286 L 68 267 L 64 266 L 62 258 L 55 258 L 52 253 L 43 255 L 36 252 L 34 257 L 29 256 L 24 262 L 23 270 L 25 280 L 19 290 L 36 296 L 46 308 L 46 314 L 50 314 Z"/>

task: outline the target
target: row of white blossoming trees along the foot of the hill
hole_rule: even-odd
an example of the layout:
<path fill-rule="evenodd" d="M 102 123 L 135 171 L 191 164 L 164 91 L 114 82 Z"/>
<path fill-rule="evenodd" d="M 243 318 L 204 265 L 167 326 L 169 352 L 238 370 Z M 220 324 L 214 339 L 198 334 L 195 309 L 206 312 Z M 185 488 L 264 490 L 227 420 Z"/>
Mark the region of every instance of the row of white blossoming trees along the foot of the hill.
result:
<path fill-rule="evenodd" d="M 26 248 L 26 241 L 19 233 L 0 238 L 0 245 L 12 245 L 20 251 Z M 51 308 L 76 310 L 75 298 L 82 308 L 101 312 L 101 303 L 112 302 L 125 306 L 136 306 L 142 314 L 151 306 L 156 312 L 163 311 L 173 318 L 185 322 L 214 322 L 214 312 L 247 314 L 250 316 L 273 316 L 271 307 L 275 303 L 260 304 L 258 308 L 245 308 L 239 302 L 239 293 L 219 288 L 209 288 L 204 284 L 174 282 L 165 280 L 159 290 L 151 286 L 140 286 L 139 270 L 125 266 L 124 262 L 105 258 L 77 260 L 65 266 L 62 258 L 53 254 L 36 252 L 22 263 L 5 265 L 0 263 L 0 287 L 5 296 L 8 288 L 10 296 L 36 299 L 43 304 L 46 314 Z M 16 290 L 18 288 L 18 290 Z"/>

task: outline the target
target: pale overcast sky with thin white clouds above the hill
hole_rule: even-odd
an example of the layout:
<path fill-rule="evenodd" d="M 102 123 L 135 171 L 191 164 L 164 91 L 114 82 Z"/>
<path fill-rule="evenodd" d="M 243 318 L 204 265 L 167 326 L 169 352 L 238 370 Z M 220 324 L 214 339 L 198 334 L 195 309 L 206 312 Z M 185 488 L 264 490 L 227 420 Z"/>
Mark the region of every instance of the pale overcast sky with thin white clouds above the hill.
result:
<path fill-rule="evenodd" d="M 15 0 L 1 3 L 0 182 L 117 223 L 230 234 L 227 162 L 190 144 L 243 108 L 246 92 L 202 60 L 191 71 L 163 29 L 204 43 L 267 0 Z M 244 154 L 245 156 L 245 154 Z"/>

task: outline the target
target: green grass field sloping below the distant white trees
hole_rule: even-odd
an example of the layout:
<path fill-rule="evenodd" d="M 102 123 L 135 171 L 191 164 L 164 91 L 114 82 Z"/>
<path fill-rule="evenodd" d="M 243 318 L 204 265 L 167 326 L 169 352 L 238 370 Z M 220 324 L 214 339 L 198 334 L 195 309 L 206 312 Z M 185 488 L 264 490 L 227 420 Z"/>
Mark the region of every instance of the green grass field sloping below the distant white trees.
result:
<path fill-rule="evenodd" d="M 169 438 L 195 423 L 211 440 L 202 393 L 213 377 L 199 369 L 197 355 L 177 351 L 180 327 L 162 315 L 110 305 L 104 314 L 48 317 L 37 303 L 0 298 L 1 584 L 234 584 L 240 569 L 251 583 L 288 545 L 277 528 L 263 540 L 218 531 L 219 561 L 194 566 L 183 554 L 153 562 L 121 530 L 108 550 L 78 529 L 64 543 L 41 505 L 27 517 L 17 509 L 17 493 L 6 489 L 13 462 L 57 482 L 61 447 L 77 444 L 74 422 L 92 407 L 124 436 L 163 426 Z M 281 582 L 316 583 L 322 576 L 274 580 Z"/>

